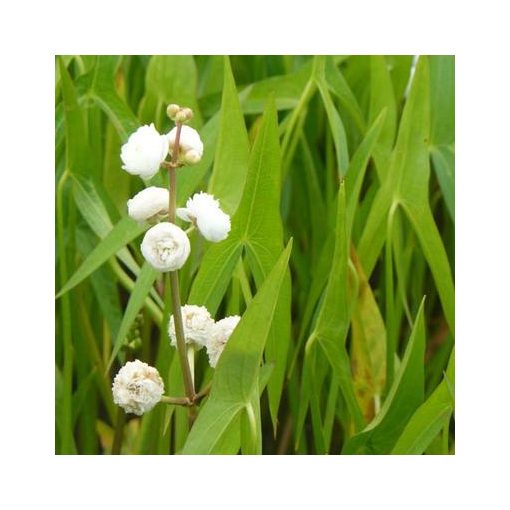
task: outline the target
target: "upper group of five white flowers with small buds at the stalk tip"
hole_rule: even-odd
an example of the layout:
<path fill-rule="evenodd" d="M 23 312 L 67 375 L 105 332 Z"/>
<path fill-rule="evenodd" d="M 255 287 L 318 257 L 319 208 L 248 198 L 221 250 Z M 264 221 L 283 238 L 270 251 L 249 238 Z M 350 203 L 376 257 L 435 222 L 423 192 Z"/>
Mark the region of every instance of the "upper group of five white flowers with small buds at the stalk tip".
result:
<path fill-rule="evenodd" d="M 189 108 L 169 105 L 168 115 L 182 123 L 193 117 Z M 202 159 L 204 144 L 193 128 L 185 125 L 174 127 L 161 135 L 154 124 L 138 128 L 122 146 L 120 157 L 122 168 L 143 179 L 156 175 L 167 156 L 172 155 L 179 132 L 177 161 L 168 164 L 192 165 Z M 128 200 L 128 214 L 138 223 L 157 223 L 168 217 L 170 196 L 165 188 L 150 186 Z M 219 201 L 208 193 L 200 192 L 186 202 L 186 207 L 177 209 L 177 216 L 191 222 L 208 241 L 217 243 L 227 238 L 230 232 L 230 216 L 220 208 Z M 186 233 L 168 221 L 150 228 L 142 241 L 142 254 L 147 262 L 161 272 L 180 269 L 190 254 Z"/>

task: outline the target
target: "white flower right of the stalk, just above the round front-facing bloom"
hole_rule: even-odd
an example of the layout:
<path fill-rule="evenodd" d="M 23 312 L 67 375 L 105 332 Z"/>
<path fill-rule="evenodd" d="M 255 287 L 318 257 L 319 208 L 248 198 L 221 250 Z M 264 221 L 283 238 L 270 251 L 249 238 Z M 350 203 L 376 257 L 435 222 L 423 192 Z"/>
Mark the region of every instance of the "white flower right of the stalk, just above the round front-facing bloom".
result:
<path fill-rule="evenodd" d="M 208 193 L 195 193 L 188 198 L 186 207 L 177 209 L 177 216 L 193 222 L 199 232 L 214 243 L 226 239 L 230 232 L 230 216 L 220 209 L 218 200 Z"/>

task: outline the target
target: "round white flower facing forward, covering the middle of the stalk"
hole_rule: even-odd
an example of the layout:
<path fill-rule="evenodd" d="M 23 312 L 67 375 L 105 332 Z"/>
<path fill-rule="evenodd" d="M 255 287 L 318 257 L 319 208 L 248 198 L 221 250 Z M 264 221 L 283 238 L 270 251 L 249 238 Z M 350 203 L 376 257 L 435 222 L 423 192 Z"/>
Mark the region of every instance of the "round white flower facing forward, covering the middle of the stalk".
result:
<path fill-rule="evenodd" d="M 158 223 L 145 233 L 142 241 L 145 260 L 158 271 L 180 269 L 186 262 L 190 245 L 188 236 L 173 223 Z"/>

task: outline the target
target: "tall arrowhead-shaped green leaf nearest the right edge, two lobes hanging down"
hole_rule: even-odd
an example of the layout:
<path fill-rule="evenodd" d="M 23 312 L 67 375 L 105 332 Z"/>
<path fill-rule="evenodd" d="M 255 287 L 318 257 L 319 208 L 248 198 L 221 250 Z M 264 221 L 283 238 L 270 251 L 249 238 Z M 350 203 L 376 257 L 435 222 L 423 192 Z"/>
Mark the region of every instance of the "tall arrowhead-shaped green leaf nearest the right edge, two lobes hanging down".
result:
<path fill-rule="evenodd" d="M 454 331 L 454 288 L 448 258 L 428 202 L 429 189 L 429 76 L 426 57 L 420 57 L 404 108 L 387 178 L 378 190 L 358 246 L 369 278 L 386 238 L 386 224 L 394 204 L 408 215 L 430 266 L 443 311 Z"/>

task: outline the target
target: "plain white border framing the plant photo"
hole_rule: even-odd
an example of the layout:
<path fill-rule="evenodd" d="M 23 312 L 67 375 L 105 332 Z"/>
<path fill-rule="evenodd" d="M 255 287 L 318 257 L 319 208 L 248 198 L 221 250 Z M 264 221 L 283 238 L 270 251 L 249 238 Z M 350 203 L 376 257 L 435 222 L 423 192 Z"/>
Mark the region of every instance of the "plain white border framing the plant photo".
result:
<path fill-rule="evenodd" d="M 501 508 L 508 504 L 504 11 L 429 1 L 92 0 L 4 13 L 2 499 L 24 508 Z M 19 5 L 19 7 L 18 7 Z M 91 28 L 92 27 L 92 28 Z M 53 456 L 53 54 L 455 53 L 457 455 Z M 501 459 L 503 466 L 498 465 Z M 168 501 L 168 502 L 167 502 Z M 25 505 L 26 504 L 26 505 Z M 504 506 L 504 505 L 503 505 Z"/>

